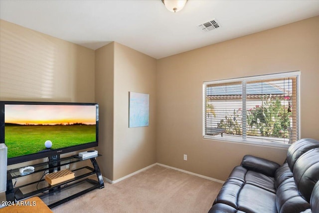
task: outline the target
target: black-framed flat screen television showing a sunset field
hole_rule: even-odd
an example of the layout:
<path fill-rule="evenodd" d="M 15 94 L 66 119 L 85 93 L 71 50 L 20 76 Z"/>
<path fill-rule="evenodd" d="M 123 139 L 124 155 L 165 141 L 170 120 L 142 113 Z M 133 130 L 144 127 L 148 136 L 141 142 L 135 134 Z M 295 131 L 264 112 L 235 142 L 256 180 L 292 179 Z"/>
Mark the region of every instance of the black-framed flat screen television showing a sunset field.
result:
<path fill-rule="evenodd" d="M 0 101 L 8 165 L 98 146 L 97 103 Z"/>

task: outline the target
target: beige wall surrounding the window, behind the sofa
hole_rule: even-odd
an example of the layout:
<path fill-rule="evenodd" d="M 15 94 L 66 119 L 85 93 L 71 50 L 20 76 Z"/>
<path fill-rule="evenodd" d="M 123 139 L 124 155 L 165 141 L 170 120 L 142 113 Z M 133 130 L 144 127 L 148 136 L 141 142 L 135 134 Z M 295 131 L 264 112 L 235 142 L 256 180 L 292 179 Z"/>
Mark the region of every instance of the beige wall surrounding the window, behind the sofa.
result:
<path fill-rule="evenodd" d="M 319 16 L 158 60 L 157 162 L 226 180 L 246 154 L 285 160 L 284 148 L 203 139 L 203 81 L 300 70 L 301 138 L 319 139 L 318 38 Z"/>

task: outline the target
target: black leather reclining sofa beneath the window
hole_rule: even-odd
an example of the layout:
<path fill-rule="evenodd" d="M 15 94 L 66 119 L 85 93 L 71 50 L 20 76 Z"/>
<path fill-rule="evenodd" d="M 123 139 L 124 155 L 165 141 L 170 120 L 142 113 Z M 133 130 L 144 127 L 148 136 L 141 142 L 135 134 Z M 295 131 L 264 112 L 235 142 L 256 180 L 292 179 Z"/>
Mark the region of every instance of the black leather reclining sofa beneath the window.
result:
<path fill-rule="evenodd" d="M 209 213 L 319 213 L 319 141 L 295 142 L 281 166 L 244 156 Z"/>

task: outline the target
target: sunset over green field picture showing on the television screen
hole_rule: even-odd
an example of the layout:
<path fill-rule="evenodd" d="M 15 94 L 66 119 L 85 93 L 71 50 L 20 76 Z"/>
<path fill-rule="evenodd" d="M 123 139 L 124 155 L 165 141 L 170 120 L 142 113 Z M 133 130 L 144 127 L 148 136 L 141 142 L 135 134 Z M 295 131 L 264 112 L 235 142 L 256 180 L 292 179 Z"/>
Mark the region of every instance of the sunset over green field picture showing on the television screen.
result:
<path fill-rule="evenodd" d="M 96 141 L 95 105 L 4 105 L 8 158 Z M 50 141 L 51 147 L 45 142 Z"/>

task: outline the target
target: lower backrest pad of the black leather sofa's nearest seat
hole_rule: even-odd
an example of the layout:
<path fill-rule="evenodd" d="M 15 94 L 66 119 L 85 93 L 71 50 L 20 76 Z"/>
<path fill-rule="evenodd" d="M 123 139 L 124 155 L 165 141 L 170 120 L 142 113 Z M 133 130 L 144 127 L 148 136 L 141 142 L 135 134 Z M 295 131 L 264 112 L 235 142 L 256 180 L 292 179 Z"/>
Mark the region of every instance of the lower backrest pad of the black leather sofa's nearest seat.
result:
<path fill-rule="evenodd" d="M 310 204 L 299 193 L 293 177 L 277 188 L 276 206 L 279 213 L 300 213 L 310 209 Z"/>

